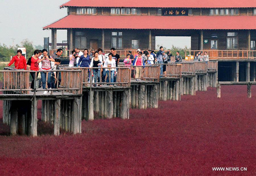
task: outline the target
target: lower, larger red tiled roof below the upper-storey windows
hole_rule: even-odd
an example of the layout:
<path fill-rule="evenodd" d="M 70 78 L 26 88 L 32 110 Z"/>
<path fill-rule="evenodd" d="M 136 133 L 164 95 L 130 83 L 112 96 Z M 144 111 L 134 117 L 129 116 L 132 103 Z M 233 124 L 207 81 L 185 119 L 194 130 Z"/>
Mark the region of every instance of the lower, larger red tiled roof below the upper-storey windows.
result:
<path fill-rule="evenodd" d="M 68 15 L 43 29 L 256 29 L 255 24 L 256 16 Z"/>

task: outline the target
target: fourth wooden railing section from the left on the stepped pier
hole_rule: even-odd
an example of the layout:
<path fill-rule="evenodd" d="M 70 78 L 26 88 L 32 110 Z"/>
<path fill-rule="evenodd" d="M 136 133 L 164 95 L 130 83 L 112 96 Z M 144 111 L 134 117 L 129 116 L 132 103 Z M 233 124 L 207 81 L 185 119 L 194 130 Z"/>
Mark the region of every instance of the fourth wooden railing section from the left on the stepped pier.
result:
<path fill-rule="evenodd" d="M 166 65 L 166 78 L 181 78 L 181 70 L 182 64 L 175 64 L 175 63 L 163 63 L 159 65 Z"/>

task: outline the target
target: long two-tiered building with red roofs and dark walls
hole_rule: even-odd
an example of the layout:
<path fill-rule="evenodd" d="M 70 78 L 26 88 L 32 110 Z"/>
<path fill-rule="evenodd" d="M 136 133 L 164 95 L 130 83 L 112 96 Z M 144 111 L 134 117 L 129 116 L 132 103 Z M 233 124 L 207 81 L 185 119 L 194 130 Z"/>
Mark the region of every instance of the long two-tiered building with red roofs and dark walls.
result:
<path fill-rule="evenodd" d="M 155 49 L 156 36 L 190 36 L 192 50 L 256 50 L 256 0 L 70 0 L 67 16 L 45 26 L 67 30 L 68 49 Z M 175 45 L 175 43 L 174 43 Z"/>

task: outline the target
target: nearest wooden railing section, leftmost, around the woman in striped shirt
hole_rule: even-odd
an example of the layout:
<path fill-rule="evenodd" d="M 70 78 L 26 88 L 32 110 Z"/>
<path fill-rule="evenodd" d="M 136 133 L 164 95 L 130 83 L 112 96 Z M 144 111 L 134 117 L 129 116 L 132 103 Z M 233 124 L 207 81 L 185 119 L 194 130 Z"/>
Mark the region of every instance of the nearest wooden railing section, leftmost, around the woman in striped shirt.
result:
<path fill-rule="evenodd" d="M 38 75 L 39 72 L 44 71 L 31 71 L 31 70 L 17 70 L 13 68 L 6 67 L 5 70 L 0 70 L 0 73 L 3 73 L 3 89 L 0 91 L 12 91 L 17 94 L 29 94 L 29 91 L 45 91 L 49 89 L 31 89 L 29 85 L 29 75 L 30 72 L 35 72 L 35 75 Z M 81 70 L 52 70 L 52 72 L 57 72 L 61 74 L 61 84 L 59 85 L 58 74 L 56 84 L 56 89 L 51 89 L 51 95 L 53 91 L 61 91 L 81 94 Z M 48 72 L 50 74 L 50 72 Z M 46 83 L 47 87 L 47 83 Z"/>

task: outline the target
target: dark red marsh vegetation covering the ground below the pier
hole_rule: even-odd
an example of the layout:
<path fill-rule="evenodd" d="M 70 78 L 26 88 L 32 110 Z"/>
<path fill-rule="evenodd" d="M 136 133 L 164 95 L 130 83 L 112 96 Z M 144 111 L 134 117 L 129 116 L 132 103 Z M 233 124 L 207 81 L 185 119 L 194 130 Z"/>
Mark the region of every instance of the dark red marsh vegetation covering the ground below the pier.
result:
<path fill-rule="evenodd" d="M 207 90 L 130 110 L 128 120 L 83 121 L 77 135 L 51 136 L 39 120 L 38 137 L 9 136 L 0 119 L 0 175 L 254 175 L 256 87 L 252 98 L 246 86 L 222 86 L 221 98 Z"/>

